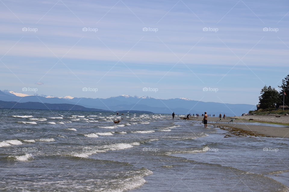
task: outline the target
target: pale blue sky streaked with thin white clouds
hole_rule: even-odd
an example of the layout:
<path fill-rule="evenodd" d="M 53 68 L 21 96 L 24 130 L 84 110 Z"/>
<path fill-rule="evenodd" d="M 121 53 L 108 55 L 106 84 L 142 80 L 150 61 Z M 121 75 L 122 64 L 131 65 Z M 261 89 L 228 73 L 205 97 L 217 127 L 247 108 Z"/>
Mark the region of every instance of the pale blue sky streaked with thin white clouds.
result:
<path fill-rule="evenodd" d="M 0 5 L 0 90 L 255 105 L 289 74 L 286 0 Z"/>

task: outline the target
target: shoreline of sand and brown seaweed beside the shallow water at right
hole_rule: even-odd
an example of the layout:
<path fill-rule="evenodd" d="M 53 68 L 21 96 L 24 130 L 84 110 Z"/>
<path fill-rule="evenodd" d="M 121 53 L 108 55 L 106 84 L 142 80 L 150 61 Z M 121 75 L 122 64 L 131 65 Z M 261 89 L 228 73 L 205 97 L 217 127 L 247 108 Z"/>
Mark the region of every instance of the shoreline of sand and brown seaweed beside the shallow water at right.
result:
<path fill-rule="evenodd" d="M 239 117 L 239 116 L 238 116 Z M 244 116 L 242 116 L 244 117 Z M 289 127 L 275 127 L 275 126 L 263 126 L 263 125 L 245 125 L 245 124 L 234 124 L 234 123 L 252 123 L 252 122 L 258 122 L 255 121 L 252 117 L 256 116 L 247 116 L 247 119 L 234 119 L 232 124 L 228 124 L 228 122 L 231 121 L 231 118 L 226 117 L 225 119 L 222 118 L 220 123 L 216 123 L 217 120 L 219 120 L 218 117 L 208 117 L 208 124 L 213 125 L 217 128 L 223 129 L 228 131 L 228 133 L 225 135 L 225 137 L 232 137 L 232 136 L 255 136 L 255 137 L 280 137 L 280 138 L 289 138 Z M 259 118 L 259 117 L 258 117 Z M 266 117 L 262 117 L 265 118 Z M 275 118 L 276 117 L 272 117 Z M 285 116 L 286 120 L 289 121 L 289 116 Z M 180 118 L 182 119 L 182 118 Z M 253 119 L 250 120 L 249 119 Z M 260 119 L 260 118 L 259 118 Z M 282 118 L 283 119 L 283 118 Z M 194 121 L 202 121 L 203 117 L 199 116 L 199 118 L 189 118 L 188 120 L 194 120 Z M 272 119 L 269 119 L 272 120 Z M 278 123 L 278 122 L 269 122 L 267 121 L 265 123 Z M 280 121 L 280 119 L 277 119 Z M 214 122 L 214 123 L 213 123 Z M 279 124 L 279 123 L 278 123 Z M 283 124 L 282 124 L 283 125 Z M 230 135 L 232 134 L 232 135 Z"/>

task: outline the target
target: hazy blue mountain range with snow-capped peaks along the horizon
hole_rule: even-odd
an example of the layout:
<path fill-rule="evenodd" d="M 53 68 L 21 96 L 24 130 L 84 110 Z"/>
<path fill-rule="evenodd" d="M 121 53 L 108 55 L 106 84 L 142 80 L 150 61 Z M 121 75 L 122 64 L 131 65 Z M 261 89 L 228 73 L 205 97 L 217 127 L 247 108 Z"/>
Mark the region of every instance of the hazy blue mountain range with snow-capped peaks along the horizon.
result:
<path fill-rule="evenodd" d="M 208 114 L 218 115 L 219 113 L 227 116 L 238 116 L 249 110 L 255 110 L 255 105 L 249 104 L 223 104 L 216 102 L 195 101 L 188 98 L 175 99 L 155 99 L 148 96 L 129 96 L 120 95 L 110 98 L 76 98 L 71 96 L 54 97 L 47 95 L 27 95 L 14 91 L 0 91 L 0 101 L 15 101 L 18 103 L 40 102 L 47 104 L 73 104 L 85 108 L 96 108 L 108 111 L 151 111 L 153 113 L 171 114 Z"/>

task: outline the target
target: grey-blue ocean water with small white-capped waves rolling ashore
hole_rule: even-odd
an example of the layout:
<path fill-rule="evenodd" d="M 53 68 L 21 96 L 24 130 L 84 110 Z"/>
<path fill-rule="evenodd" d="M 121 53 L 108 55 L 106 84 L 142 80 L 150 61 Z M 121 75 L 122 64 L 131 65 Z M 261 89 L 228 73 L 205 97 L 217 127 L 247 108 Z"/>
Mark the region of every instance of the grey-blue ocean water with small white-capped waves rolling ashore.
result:
<path fill-rule="evenodd" d="M 225 133 L 178 115 L 0 109 L 0 191 L 288 191 L 288 138 Z"/>

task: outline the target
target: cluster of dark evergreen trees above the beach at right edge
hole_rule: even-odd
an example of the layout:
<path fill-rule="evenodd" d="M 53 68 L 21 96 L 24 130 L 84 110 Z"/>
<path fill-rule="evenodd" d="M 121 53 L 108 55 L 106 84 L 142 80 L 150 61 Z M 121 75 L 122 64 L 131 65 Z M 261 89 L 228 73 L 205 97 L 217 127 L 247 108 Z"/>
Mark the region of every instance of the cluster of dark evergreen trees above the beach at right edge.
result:
<path fill-rule="evenodd" d="M 272 110 L 279 108 L 279 106 L 283 105 L 283 97 L 284 105 L 289 106 L 289 75 L 282 79 L 282 84 L 278 87 L 280 88 L 280 91 L 278 91 L 276 88 L 266 85 L 261 89 L 258 109 Z"/>

